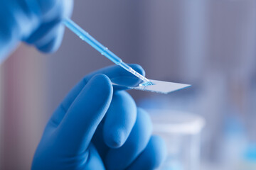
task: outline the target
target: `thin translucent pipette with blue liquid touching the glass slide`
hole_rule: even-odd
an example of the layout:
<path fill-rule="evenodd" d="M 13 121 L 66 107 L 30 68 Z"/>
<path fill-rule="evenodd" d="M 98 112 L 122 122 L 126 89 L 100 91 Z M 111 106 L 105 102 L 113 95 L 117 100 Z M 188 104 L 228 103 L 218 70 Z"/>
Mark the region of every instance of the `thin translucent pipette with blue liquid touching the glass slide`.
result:
<path fill-rule="evenodd" d="M 142 76 L 142 74 L 139 74 L 136 72 L 132 67 L 129 67 L 128 64 L 122 62 L 122 60 L 117 57 L 117 55 L 114 55 L 113 52 L 107 49 L 104 45 L 102 45 L 100 42 L 95 40 L 89 33 L 87 33 L 85 30 L 83 30 L 78 24 L 76 24 L 74 21 L 66 18 L 63 23 L 65 24 L 66 27 L 68 27 L 73 33 L 78 35 L 79 38 L 87 42 L 89 45 L 95 48 L 98 52 L 100 52 L 102 55 L 107 57 L 109 60 L 114 62 L 114 64 L 117 64 L 121 66 L 122 68 L 126 69 L 128 72 L 134 74 L 134 76 L 138 77 L 142 81 L 144 81 L 142 86 L 149 86 L 152 85 L 151 81 L 149 79 L 146 79 L 146 77 Z"/>

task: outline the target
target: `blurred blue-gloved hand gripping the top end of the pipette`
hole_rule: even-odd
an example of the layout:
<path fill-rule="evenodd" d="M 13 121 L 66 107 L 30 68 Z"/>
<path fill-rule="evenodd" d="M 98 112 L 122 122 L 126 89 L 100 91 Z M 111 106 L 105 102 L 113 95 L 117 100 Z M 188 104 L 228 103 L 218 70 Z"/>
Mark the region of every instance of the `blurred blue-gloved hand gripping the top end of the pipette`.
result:
<path fill-rule="evenodd" d="M 73 0 L 0 0 L 0 63 L 21 40 L 43 52 L 58 49 Z"/>

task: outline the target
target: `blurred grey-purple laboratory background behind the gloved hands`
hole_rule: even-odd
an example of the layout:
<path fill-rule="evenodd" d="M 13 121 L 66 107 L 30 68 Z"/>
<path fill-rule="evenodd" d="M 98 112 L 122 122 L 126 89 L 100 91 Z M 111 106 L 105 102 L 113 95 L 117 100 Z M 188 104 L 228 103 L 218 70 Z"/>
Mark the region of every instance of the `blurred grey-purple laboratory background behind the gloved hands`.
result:
<path fill-rule="evenodd" d="M 145 109 L 200 115 L 201 169 L 256 162 L 256 1 L 75 1 L 73 20 L 149 79 L 192 84 L 129 91 Z M 112 64 L 66 30 L 52 55 L 20 47 L 0 67 L 0 169 L 30 169 L 50 115 L 86 74 Z M 253 166 L 255 167 L 255 166 Z"/>

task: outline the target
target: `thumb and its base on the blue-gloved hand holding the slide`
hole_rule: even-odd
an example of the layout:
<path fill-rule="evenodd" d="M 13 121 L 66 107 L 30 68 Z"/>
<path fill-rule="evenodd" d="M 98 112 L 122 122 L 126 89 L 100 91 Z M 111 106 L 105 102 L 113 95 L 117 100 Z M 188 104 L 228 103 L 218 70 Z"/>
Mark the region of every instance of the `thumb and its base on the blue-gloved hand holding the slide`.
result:
<path fill-rule="evenodd" d="M 112 93 L 110 80 L 97 74 L 68 110 L 61 105 L 46 127 L 32 169 L 82 169 L 88 161 L 95 169 L 104 169 L 90 141 L 110 106 Z"/>

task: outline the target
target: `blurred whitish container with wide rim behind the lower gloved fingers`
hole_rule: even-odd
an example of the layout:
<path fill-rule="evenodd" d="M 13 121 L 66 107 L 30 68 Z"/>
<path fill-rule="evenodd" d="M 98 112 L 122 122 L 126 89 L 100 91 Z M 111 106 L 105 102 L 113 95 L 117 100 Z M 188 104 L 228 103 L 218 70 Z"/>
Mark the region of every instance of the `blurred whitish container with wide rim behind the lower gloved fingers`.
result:
<path fill-rule="evenodd" d="M 148 110 L 154 134 L 164 137 L 167 158 L 159 170 L 198 170 L 201 164 L 201 130 L 205 120 L 193 113 Z"/>

